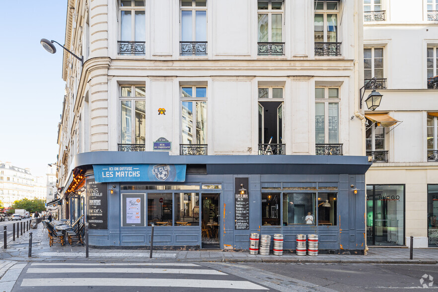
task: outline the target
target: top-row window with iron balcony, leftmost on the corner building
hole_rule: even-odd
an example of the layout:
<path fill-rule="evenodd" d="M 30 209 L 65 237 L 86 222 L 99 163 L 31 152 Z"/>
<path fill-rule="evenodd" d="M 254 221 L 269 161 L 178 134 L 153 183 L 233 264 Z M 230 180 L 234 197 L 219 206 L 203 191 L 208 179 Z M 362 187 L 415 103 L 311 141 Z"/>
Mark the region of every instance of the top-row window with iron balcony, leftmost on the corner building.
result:
<path fill-rule="evenodd" d="M 119 55 L 145 55 L 146 16 L 144 0 L 120 0 Z"/>

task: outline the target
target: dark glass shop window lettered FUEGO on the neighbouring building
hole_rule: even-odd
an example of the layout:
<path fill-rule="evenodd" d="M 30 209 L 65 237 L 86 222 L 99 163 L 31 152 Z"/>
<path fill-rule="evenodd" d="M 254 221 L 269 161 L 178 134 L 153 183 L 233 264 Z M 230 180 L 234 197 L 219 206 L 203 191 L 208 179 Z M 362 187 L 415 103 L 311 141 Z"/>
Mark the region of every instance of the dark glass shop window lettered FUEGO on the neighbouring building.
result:
<path fill-rule="evenodd" d="M 369 245 L 404 245 L 403 185 L 368 185 L 366 224 Z"/>

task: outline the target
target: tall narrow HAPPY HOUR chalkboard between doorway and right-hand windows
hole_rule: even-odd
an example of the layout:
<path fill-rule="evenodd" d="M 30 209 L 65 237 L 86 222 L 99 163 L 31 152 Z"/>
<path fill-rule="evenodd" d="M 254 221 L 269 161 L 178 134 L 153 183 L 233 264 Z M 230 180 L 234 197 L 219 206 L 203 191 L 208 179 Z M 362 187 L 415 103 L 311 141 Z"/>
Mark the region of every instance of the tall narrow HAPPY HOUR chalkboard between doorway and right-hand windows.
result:
<path fill-rule="evenodd" d="M 248 178 L 236 177 L 234 194 L 234 229 L 249 229 L 249 196 L 248 192 L 241 194 L 238 190 L 243 184 L 245 189 L 248 188 Z"/>

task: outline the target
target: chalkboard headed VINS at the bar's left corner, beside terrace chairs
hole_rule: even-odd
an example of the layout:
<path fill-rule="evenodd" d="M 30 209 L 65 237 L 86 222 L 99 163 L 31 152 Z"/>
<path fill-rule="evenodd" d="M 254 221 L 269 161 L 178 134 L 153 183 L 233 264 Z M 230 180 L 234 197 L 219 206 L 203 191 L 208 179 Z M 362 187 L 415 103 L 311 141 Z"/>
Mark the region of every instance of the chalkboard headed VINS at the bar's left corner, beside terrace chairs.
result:
<path fill-rule="evenodd" d="M 87 179 L 87 222 L 90 229 L 108 229 L 107 184 L 94 179 Z"/>

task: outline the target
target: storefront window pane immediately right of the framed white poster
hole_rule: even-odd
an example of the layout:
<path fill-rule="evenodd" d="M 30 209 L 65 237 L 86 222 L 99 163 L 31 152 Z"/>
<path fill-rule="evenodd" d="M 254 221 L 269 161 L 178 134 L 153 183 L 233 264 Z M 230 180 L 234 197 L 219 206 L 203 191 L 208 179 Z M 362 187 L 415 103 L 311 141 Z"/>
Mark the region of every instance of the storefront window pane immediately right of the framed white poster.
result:
<path fill-rule="evenodd" d="M 147 225 L 172 226 L 172 194 L 147 194 Z"/>

